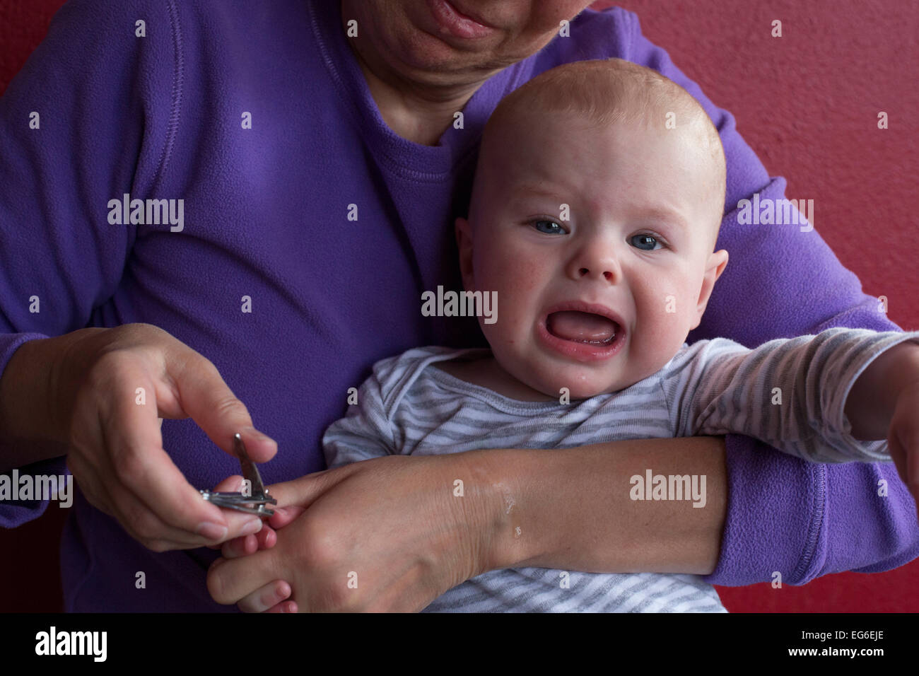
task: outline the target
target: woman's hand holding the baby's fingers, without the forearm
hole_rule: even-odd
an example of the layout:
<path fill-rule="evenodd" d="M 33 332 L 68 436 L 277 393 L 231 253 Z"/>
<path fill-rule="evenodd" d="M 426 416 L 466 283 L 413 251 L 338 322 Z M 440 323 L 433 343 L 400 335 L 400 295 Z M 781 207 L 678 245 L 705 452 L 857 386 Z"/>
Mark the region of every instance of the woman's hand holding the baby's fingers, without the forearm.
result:
<path fill-rule="evenodd" d="M 236 557 L 210 567 L 210 595 L 255 613 L 289 610 L 278 606 L 288 595 L 301 612 L 424 609 L 491 569 L 504 510 L 464 455 L 392 455 L 268 487 L 278 512 L 258 541 L 267 548 L 241 556 L 255 541 L 224 544 Z"/>

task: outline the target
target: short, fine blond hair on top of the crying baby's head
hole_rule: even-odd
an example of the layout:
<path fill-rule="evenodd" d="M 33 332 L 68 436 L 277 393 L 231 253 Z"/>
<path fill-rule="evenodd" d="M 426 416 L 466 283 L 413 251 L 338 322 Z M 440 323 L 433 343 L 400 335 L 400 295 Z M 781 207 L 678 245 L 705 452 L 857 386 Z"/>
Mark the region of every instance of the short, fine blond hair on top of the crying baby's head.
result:
<path fill-rule="evenodd" d="M 726 167 L 718 130 L 708 113 L 686 89 L 650 68 L 623 59 L 576 61 L 539 74 L 508 94 L 498 105 L 482 132 L 482 155 L 505 123 L 521 114 L 573 113 L 599 127 L 618 123 L 639 123 L 645 128 L 667 129 L 668 119 L 677 129 L 696 132 L 698 143 L 715 167 L 707 199 L 717 197 L 711 248 L 718 239 L 724 214 Z M 668 118 L 673 113 L 675 118 Z M 480 166 L 482 156 L 480 156 Z"/>

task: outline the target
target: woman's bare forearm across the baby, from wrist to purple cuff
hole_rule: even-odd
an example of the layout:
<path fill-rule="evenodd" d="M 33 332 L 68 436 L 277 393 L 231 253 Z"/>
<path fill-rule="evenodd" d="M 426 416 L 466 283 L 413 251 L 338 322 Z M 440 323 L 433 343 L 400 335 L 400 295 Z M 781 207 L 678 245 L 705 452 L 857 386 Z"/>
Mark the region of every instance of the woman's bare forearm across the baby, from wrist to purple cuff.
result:
<path fill-rule="evenodd" d="M 488 477 L 489 504 L 501 505 L 485 536 L 486 569 L 708 575 L 718 564 L 727 513 L 723 437 L 462 455 Z M 666 499 L 653 499 L 653 479 L 645 499 L 632 499 L 649 470 L 652 477 L 688 475 L 689 486 L 695 476 L 697 496 L 705 477 L 704 506 L 694 507 L 701 500 L 691 495 L 673 499 L 670 481 L 664 487 Z M 630 481 L 633 476 L 641 482 Z"/>

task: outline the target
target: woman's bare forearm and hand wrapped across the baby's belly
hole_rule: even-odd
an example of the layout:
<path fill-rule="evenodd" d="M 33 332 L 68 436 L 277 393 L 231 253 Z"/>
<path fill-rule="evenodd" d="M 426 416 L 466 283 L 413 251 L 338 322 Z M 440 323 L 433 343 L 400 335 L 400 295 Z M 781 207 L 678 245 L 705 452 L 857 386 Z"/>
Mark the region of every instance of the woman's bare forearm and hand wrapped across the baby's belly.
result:
<path fill-rule="evenodd" d="M 629 477 L 647 468 L 705 475 L 704 507 L 632 501 Z M 494 568 L 709 572 L 726 512 L 724 441 L 388 455 L 268 490 L 277 544 L 224 544 L 208 573 L 216 602 L 255 613 L 418 611 Z"/>

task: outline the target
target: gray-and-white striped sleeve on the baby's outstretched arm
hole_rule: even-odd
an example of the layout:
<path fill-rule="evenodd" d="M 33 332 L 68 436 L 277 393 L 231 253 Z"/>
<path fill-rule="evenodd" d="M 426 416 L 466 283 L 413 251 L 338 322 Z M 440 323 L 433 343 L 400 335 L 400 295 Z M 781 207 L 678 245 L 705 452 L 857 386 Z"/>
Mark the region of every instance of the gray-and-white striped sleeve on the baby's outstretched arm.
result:
<path fill-rule="evenodd" d="M 834 327 L 747 349 L 726 338 L 682 349 L 664 372 L 677 436 L 734 432 L 814 463 L 890 461 L 887 441 L 857 441 L 845 400 L 887 349 L 919 332 Z"/>

